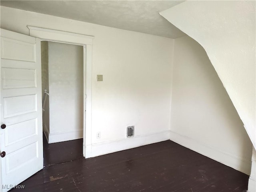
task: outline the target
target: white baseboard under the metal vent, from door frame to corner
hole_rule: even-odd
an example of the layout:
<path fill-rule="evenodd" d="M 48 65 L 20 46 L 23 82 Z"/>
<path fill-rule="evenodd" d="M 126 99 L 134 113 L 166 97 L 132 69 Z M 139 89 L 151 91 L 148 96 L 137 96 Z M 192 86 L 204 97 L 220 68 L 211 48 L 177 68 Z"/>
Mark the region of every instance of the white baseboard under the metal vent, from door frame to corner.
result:
<path fill-rule="evenodd" d="M 110 142 L 102 142 L 86 146 L 85 157 L 95 157 L 117 151 L 122 151 L 134 147 L 139 147 L 147 144 L 169 140 L 170 130 L 155 132 L 152 134 L 145 134 L 135 136 L 132 138 L 124 138 L 121 140 L 114 140 Z"/>

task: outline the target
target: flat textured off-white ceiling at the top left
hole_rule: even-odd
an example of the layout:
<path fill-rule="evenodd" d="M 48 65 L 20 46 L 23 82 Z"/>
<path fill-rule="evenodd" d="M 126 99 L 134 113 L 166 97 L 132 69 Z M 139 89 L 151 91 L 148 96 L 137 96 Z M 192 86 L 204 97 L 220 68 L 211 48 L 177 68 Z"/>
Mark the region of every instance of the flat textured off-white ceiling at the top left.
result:
<path fill-rule="evenodd" d="M 160 0 L 1 0 L 1 6 L 38 12 L 114 28 L 178 38 L 185 34 L 159 12 L 183 1 Z"/>

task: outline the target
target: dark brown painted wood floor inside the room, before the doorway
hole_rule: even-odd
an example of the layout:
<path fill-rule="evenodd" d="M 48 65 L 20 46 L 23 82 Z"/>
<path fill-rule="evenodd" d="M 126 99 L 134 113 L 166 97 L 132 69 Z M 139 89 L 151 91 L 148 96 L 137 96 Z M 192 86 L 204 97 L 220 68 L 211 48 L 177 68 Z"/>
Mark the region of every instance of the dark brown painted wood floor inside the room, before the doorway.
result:
<path fill-rule="evenodd" d="M 248 177 L 168 140 L 47 166 L 12 192 L 246 192 Z"/>

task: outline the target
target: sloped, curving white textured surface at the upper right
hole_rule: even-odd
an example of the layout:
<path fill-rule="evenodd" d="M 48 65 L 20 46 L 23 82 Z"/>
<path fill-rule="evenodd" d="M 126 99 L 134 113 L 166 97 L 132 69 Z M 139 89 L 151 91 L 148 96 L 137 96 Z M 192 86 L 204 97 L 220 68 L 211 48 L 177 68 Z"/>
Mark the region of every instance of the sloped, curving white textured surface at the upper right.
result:
<path fill-rule="evenodd" d="M 199 42 L 256 148 L 255 1 L 186 1 L 160 14 Z"/>

